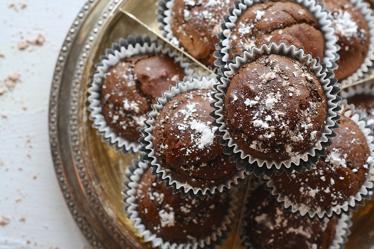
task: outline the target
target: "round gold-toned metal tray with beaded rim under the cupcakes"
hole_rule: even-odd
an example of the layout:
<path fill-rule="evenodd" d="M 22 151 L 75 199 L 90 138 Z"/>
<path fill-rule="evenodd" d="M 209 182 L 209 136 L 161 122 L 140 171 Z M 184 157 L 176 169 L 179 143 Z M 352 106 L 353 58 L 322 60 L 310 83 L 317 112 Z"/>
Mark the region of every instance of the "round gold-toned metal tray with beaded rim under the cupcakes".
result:
<path fill-rule="evenodd" d="M 50 95 L 50 144 L 67 205 L 94 248 L 151 248 L 131 228 L 123 211 L 123 175 L 137 158 L 114 151 L 88 119 L 87 89 L 105 48 L 129 34 L 150 35 L 120 10 L 158 30 L 157 0 L 89 0 L 61 49 Z M 160 31 L 158 31 L 160 33 Z M 346 248 L 374 246 L 374 200 L 353 213 Z M 235 228 L 233 227 L 235 231 Z M 234 232 L 219 248 L 233 248 Z"/>

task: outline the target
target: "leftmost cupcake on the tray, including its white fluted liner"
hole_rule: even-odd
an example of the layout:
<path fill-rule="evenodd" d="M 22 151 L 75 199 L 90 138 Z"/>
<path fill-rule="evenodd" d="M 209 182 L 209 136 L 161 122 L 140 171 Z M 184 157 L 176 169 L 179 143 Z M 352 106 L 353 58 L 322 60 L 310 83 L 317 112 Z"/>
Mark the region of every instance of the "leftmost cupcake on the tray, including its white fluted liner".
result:
<path fill-rule="evenodd" d="M 88 89 L 93 127 L 123 153 L 139 150 L 145 114 L 162 91 L 194 72 L 181 53 L 157 43 L 141 36 L 113 43 L 96 65 Z"/>

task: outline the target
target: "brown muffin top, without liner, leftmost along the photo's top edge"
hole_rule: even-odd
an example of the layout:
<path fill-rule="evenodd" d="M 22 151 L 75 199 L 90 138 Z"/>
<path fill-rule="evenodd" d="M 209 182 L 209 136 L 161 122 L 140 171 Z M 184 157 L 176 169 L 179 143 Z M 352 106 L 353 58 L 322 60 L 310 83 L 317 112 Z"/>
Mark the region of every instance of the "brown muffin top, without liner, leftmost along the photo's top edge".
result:
<path fill-rule="evenodd" d="M 175 0 L 171 30 L 188 53 L 214 67 L 215 44 L 220 40 L 223 16 L 235 0 Z"/>

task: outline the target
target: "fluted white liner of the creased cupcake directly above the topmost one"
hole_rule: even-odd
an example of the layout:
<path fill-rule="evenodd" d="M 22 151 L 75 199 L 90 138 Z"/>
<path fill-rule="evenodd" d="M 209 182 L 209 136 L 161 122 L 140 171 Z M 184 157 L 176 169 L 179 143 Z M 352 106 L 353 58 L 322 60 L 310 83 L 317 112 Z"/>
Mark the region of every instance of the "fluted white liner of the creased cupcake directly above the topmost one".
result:
<path fill-rule="evenodd" d="M 326 64 L 328 71 L 333 71 L 338 66 L 336 61 L 339 59 L 338 50 L 340 47 L 336 44 L 338 37 L 335 35 L 335 28 L 332 26 L 332 16 L 328 10 L 324 9 L 324 3 L 318 3 L 315 0 L 292 0 L 302 6 L 306 7 L 317 19 L 319 25 L 321 25 L 321 31 L 324 33 L 325 38 L 325 55 L 322 60 Z M 239 19 L 240 15 L 254 4 L 261 3 L 261 0 L 240 0 L 235 1 L 235 8 L 229 9 L 229 15 L 225 15 L 224 23 L 221 24 L 222 32 L 218 34 L 220 43 L 216 45 L 216 51 L 213 53 L 214 57 L 217 58 L 215 65 L 217 67 L 225 67 L 226 62 L 230 62 L 229 55 L 229 44 L 230 44 L 230 32 L 235 26 L 235 22 Z M 293 44 L 293 43 L 292 43 Z M 303 47 L 300 47 L 303 48 Z M 251 50 L 250 47 L 246 48 Z M 235 54 L 234 54 L 235 56 Z M 219 73 L 223 73 L 218 71 Z"/>

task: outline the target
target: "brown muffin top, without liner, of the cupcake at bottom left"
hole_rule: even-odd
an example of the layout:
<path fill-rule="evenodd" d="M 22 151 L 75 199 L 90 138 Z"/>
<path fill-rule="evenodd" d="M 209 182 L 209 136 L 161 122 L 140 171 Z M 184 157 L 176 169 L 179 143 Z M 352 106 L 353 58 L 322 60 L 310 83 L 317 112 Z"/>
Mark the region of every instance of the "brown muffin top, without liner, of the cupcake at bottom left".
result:
<path fill-rule="evenodd" d="M 145 227 L 157 237 L 171 243 L 196 241 L 211 235 L 221 224 L 229 206 L 229 196 L 213 198 L 181 198 L 157 182 L 148 169 L 137 188 L 138 212 Z"/>

